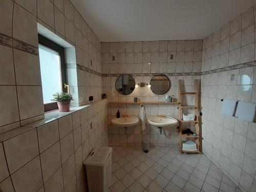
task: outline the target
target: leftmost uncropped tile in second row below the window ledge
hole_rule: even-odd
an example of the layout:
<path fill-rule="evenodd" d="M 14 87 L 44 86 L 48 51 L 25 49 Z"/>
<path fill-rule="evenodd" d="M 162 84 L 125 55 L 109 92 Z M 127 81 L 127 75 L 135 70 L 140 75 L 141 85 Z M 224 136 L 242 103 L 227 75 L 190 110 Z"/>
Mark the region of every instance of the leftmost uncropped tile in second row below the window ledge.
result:
<path fill-rule="evenodd" d="M 52 145 L 44 153 L 40 154 L 42 179 L 44 183 L 58 170 L 61 166 L 61 155 L 59 142 Z"/>

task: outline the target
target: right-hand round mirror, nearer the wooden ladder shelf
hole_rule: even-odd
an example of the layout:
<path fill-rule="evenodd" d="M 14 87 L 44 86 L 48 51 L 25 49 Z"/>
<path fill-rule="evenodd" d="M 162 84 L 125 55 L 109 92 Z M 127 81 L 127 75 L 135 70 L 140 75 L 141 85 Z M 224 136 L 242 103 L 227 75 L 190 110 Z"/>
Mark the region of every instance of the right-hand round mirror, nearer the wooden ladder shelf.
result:
<path fill-rule="evenodd" d="M 169 91 L 171 83 L 168 77 L 164 75 L 156 75 L 151 79 L 150 85 L 153 93 L 163 95 Z"/>

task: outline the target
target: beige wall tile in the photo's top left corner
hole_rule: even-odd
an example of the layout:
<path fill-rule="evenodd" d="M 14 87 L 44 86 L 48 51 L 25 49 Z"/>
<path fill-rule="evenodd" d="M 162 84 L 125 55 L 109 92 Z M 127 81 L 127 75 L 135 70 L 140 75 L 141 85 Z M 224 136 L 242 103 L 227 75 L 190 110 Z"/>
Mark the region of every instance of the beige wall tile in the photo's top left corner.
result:
<path fill-rule="evenodd" d="M 3 0 L 0 6 L 0 12 L 3 17 L 0 20 L 0 33 L 12 36 L 13 1 Z"/>

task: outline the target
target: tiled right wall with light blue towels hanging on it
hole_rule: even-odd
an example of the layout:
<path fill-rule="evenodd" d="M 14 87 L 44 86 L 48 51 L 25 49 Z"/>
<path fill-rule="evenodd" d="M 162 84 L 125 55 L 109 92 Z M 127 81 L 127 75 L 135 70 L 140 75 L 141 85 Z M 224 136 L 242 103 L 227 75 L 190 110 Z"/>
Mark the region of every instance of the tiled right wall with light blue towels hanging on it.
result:
<path fill-rule="evenodd" d="M 253 191 L 256 123 L 221 114 L 221 99 L 256 102 L 256 7 L 203 40 L 203 152 L 242 191 Z"/>

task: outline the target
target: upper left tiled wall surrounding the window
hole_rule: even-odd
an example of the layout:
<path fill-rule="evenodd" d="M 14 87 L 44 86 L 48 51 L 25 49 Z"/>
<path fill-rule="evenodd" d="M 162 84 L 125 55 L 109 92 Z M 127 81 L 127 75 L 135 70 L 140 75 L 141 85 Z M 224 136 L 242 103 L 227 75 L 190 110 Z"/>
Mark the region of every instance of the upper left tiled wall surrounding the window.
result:
<path fill-rule="evenodd" d="M 37 23 L 75 48 L 67 63 L 72 104 L 101 97 L 100 41 L 69 0 L 3 0 L 0 12 L 0 133 L 44 118 Z"/>

